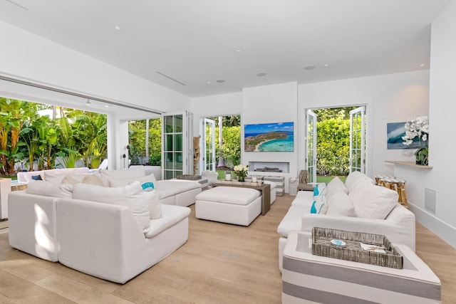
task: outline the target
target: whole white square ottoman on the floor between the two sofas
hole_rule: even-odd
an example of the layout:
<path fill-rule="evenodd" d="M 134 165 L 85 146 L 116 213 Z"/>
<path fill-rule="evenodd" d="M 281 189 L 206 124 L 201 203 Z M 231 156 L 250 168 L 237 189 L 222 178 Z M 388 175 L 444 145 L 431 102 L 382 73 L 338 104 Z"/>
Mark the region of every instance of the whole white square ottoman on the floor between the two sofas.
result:
<path fill-rule="evenodd" d="M 196 196 L 197 219 L 249 226 L 261 214 L 261 194 L 241 187 L 214 187 Z"/>

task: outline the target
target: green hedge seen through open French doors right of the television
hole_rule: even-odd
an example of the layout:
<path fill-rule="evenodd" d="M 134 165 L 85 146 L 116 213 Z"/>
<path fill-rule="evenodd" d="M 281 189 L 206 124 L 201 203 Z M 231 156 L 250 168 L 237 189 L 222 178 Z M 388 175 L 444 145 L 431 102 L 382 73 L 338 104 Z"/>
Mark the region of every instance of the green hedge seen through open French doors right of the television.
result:
<path fill-rule="evenodd" d="M 348 174 L 350 120 L 343 115 L 317 122 L 317 173 Z"/>

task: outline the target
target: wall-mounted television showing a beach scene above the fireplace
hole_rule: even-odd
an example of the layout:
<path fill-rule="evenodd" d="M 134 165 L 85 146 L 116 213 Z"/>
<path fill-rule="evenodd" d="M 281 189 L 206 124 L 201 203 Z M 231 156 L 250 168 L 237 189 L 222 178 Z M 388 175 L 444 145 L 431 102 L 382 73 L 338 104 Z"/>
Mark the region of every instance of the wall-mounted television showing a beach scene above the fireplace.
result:
<path fill-rule="evenodd" d="M 294 122 L 244 125 L 245 152 L 293 152 Z"/>

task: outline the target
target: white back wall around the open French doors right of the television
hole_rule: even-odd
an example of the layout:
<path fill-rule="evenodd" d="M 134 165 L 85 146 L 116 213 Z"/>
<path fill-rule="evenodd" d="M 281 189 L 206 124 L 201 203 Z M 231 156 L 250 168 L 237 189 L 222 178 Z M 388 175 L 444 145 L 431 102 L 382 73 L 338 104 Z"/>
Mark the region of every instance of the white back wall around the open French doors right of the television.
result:
<path fill-rule="evenodd" d="M 387 150 L 387 122 L 404 122 L 413 115 L 428 114 L 429 70 L 352 78 L 299 85 L 299 151 L 305 151 L 305 110 L 367 105 L 368 174 L 393 174 L 385 160 L 411 160 L 414 150 Z M 299 157 L 299 169 L 304 169 Z"/>

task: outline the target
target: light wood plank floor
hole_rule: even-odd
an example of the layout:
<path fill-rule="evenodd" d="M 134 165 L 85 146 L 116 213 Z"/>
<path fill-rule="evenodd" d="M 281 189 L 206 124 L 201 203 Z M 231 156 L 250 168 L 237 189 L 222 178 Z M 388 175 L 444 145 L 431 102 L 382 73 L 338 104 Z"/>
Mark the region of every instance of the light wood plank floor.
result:
<path fill-rule="evenodd" d="M 0 303 L 281 303 L 277 226 L 294 196 L 277 196 L 249 227 L 190 216 L 188 242 L 125 285 L 43 261 L 0 234 Z M 417 253 L 456 303 L 456 249 L 417 224 Z"/>

